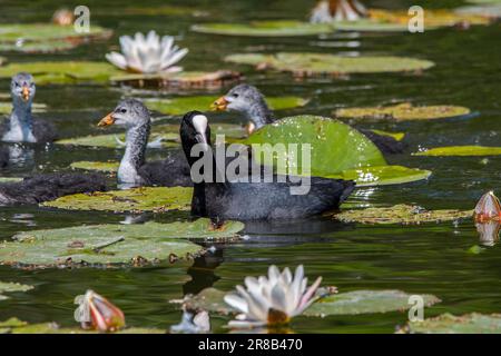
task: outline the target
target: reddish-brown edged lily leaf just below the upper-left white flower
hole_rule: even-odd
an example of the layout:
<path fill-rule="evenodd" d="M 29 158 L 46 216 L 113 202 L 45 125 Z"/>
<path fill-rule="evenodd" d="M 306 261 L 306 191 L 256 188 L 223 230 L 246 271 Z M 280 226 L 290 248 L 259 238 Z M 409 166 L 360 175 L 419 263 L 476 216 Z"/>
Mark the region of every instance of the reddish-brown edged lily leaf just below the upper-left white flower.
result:
<path fill-rule="evenodd" d="M 232 70 L 218 70 L 213 72 L 180 71 L 176 73 L 120 73 L 111 76 L 112 82 L 127 83 L 134 87 L 180 87 L 180 88 L 219 88 L 224 85 L 236 82 L 242 75 Z"/>

